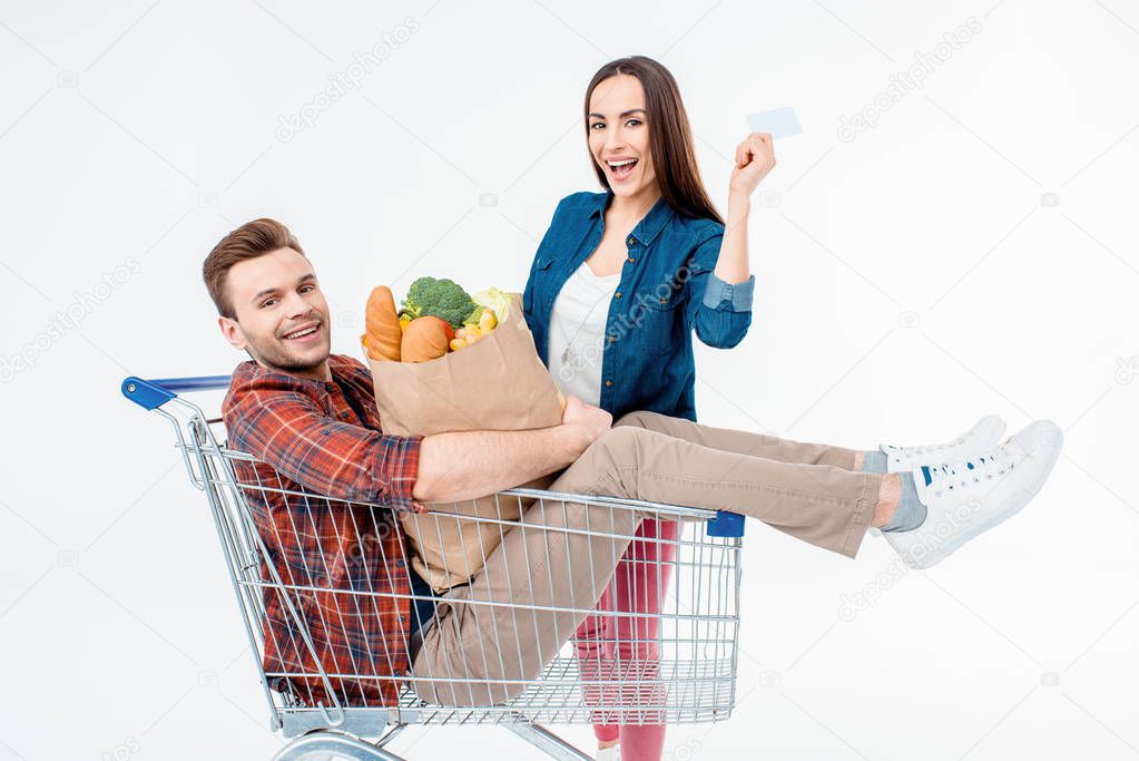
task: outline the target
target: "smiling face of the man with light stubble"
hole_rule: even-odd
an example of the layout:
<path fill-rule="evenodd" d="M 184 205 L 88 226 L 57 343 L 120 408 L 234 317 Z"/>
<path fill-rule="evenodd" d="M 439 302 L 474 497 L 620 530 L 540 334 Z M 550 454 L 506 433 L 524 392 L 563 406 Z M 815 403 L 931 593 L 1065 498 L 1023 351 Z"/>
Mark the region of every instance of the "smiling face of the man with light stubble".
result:
<path fill-rule="evenodd" d="M 262 367 L 328 380 L 328 304 L 309 260 L 292 248 L 238 262 L 226 278 L 236 319 L 222 335 Z"/>

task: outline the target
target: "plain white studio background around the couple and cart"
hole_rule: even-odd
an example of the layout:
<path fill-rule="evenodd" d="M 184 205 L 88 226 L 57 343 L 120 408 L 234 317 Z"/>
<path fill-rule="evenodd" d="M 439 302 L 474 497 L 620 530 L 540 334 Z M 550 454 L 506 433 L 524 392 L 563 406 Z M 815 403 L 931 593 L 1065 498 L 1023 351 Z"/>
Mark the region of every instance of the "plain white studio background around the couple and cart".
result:
<path fill-rule="evenodd" d="M 1133 3 L 377 5 L 0 6 L 0 759 L 280 746 L 205 501 L 120 380 L 244 358 L 200 265 L 256 216 L 309 252 L 335 351 L 357 353 L 375 284 L 521 288 L 557 201 L 596 187 L 584 88 L 638 52 L 677 76 L 721 210 L 748 113 L 790 105 L 805 130 L 755 196 L 753 328 L 697 350 L 703 422 L 852 447 L 985 412 L 1066 433 L 1024 513 L 853 621 L 843 599 L 894 563 L 883 540 L 850 560 L 751 523 L 739 707 L 671 728 L 669 758 L 1139 758 Z M 839 139 L 970 16 L 980 32 L 923 88 Z M 81 319 L 52 330 L 68 309 Z M 392 747 L 528 758 L 494 728 Z"/>

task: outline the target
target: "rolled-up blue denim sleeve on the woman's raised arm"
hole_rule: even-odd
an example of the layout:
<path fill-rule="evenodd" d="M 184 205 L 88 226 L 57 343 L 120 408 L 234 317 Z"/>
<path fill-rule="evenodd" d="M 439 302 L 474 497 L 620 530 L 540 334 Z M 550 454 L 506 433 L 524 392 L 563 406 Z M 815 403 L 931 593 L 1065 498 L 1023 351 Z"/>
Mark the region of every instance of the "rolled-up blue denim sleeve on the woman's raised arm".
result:
<path fill-rule="evenodd" d="M 690 261 L 688 318 L 696 337 L 713 349 L 731 349 L 752 325 L 755 276 L 726 283 L 712 271 L 720 259 L 723 228 L 716 226 L 696 247 Z"/>

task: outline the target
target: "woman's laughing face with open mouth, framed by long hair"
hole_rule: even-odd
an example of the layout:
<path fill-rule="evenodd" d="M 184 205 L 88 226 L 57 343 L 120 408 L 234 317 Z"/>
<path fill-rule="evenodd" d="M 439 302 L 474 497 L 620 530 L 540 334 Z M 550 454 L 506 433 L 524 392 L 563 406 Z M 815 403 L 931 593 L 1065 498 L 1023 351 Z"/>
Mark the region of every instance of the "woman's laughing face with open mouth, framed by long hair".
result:
<path fill-rule="evenodd" d="M 589 152 L 616 196 L 656 190 L 646 117 L 645 88 L 636 76 L 601 80 L 589 97 Z"/>

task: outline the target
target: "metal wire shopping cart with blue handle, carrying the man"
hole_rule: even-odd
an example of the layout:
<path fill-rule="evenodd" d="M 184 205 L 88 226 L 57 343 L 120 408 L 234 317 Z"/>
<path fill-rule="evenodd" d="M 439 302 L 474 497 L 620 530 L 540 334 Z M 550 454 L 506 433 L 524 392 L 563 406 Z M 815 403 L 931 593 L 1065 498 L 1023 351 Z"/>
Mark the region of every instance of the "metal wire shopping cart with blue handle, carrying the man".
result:
<path fill-rule="evenodd" d="M 595 515 L 598 510 L 611 517 L 637 510 L 659 521 L 675 521 L 680 526 L 678 532 L 637 539 L 617 571 L 633 574 L 636 580 L 626 586 L 634 597 L 639 588 L 650 588 L 647 583 L 641 587 L 646 579 L 663 580 L 664 583 L 654 584 L 654 588 L 667 588 L 667 591 L 657 592 L 650 607 L 623 606 L 654 613 L 616 609 L 612 599 L 603 605 L 592 599 L 590 605 L 577 607 L 464 600 L 475 621 L 480 615 L 501 617 L 509 614 L 516 631 L 522 631 L 517 627 L 527 627 L 540 616 L 575 622 L 593 616 L 593 621 L 616 620 L 630 625 L 597 627 L 596 631 L 603 632 L 603 646 L 596 647 L 598 643 L 592 643 L 589 653 L 596 654 L 589 656 L 583 655 L 585 650 L 574 637 L 565 641 L 559 639 L 552 657 L 536 673 L 521 678 L 495 678 L 493 673 L 487 676 L 485 669 L 432 674 L 431 684 L 436 690 L 441 684 L 452 687 L 453 699 L 423 699 L 416 692 L 421 687 L 417 684 L 420 676 L 411 671 L 396 674 L 376 668 L 377 658 L 383 665 L 383 654 L 357 653 L 359 660 L 350 658 L 352 663 L 346 669 L 335 658 L 330 661 L 326 657 L 329 633 L 350 627 L 352 621 L 360 623 L 371 612 L 378 616 L 380 598 L 405 597 L 415 609 L 417 602 L 448 602 L 450 596 L 439 597 L 413 579 L 413 557 L 407 554 L 402 541 L 393 545 L 377 539 L 391 537 L 393 532 L 399 534 L 392 510 L 382 505 L 347 504 L 297 489 L 294 482 L 265 464 L 259 464 L 252 456 L 219 443 L 215 429 L 222 427 L 221 420 L 207 418 L 197 404 L 179 396 L 183 392 L 228 386 L 229 376 L 163 380 L 129 377 L 122 383 L 122 392 L 142 408 L 170 420 L 190 481 L 205 493 L 210 504 L 249 645 L 262 658 L 259 671 L 271 727 L 292 740 L 276 759 L 337 756 L 399 761 L 400 756 L 384 746 L 415 723 L 501 725 L 551 758 L 590 759 L 591 755 L 574 748 L 539 722 L 697 723 L 722 721 L 730 715 L 736 701 L 743 518 L 696 508 L 530 489 L 513 489 L 493 496 L 495 509 L 490 515 L 485 505 L 482 510 L 467 510 L 468 515 L 462 517 L 459 517 L 464 513 L 462 505 L 451 506 L 453 509 L 433 506 L 435 509 L 416 516 L 420 522 L 420 538 L 432 531 L 442 537 L 458 526 L 469 529 L 472 523 L 481 532 L 477 533 L 480 541 L 487 537 L 502 540 L 507 532 L 521 530 L 544 532 L 540 535 L 546 547 L 570 542 L 575 538 L 573 534 L 600 537 L 614 542 L 614 547 L 632 538 L 630 533 L 606 533 L 604 529 L 582 531 L 542 523 L 535 525 L 528 517 L 519 527 L 519 514 L 534 514 L 526 512 L 527 507 L 546 515 L 547 510 L 563 514 L 567 506 L 585 505 Z M 220 439 L 224 441 L 223 436 Z M 281 515 L 269 513 L 273 506 L 287 510 L 292 523 L 276 519 Z M 281 525 L 292 525 L 297 535 L 304 535 L 309 526 L 317 529 L 318 522 L 329 515 L 347 516 L 352 535 L 342 546 L 349 554 L 358 548 L 357 554 L 361 557 L 354 562 L 384 566 L 388 573 L 398 568 L 407 574 L 401 580 L 405 583 L 390 583 L 382 589 L 363 589 L 350 583 L 347 589 L 331 589 L 331 559 L 323 567 L 305 567 L 300 580 L 293 570 L 282 574 L 279 560 L 286 545 L 300 540 L 296 535 L 282 537 Z M 327 524 L 319 525 L 325 526 L 321 530 L 327 529 Z M 344 525 L 342 522 L 335 530 L 344 531 Z M 392 558 L 383 556 L 385 549 L 398 557 L 388 563 Z M 489 556 L 486 553 L 482 557 Z M 581 562 L 574 558 L 574 563 Z M 477 578 L 478 568 L 468 571 L 465 576 Z M 593 571 L 590 568 L 590 574 Z M 612 565 L 596 571 L 614 573 Z M 518 580 L 519 588 L 526 587 L 533 592 L 548 584 L 552 589 L 562 581 L 556 579 L 558 573 L 550 567 L 548 578 Z M 626 581 L 630 579 L 626 576 Z M 392 591 L 393 588 L 402 591 Z M 314 606 L 318 597 L 325 603 Z M 603 600 L 608 597 L 606 595 Z M 400 645 L 415 648 L 424 632 L 443 625 L 445 617 L 441 609 L 446 606 L 437 605 L 425 619 L 421 630 L 409 629 L 404 636 L 401 629 L 396 638 Z M 637 625 L 647 617 L 654 619 L 653 627 Z M 277 625 L 270 625 L 274 622 Z M 624 631 L 624 636 L 633 640 L 640 637 L 636 632 L 655 633 L 645 637 L 650 641 L 621 641 L 612 635 L 614 630 Z M 483 635 L 484 630 L 476 633 Z M 390 638 L 384 641 L 390 643 Z M 477 641 L 477 637 L 472 641 Z M 498 643 L 493 657 L 501 660 L 503 653 L 509 655 L 510 643 L 505 647 Z M 474 686 L 482 693 L 498 690 L 495 694 L 508 697 L 483 703 L 465 699 L 464 695 L 475 694 Z"/>

